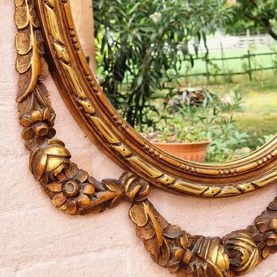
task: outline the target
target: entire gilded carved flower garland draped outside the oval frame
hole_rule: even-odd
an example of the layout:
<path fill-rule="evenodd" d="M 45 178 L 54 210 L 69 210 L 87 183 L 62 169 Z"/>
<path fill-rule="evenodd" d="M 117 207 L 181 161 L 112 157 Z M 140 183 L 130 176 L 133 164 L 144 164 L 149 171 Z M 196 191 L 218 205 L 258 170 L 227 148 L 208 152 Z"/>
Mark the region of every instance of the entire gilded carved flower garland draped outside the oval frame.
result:
<path fill-rule="evenodd" d="M 15 6 L 17 102 L 19 123 L 24 127 L 21 136 L 30 151 L 30 171 L 57 208 L 70 215 L 100 213 L 126 199 L 132 203 L 129 217 L 145 249 L 154 262 L 177 276 L 241 276 L 276 253 L 277 199 L 247 229 L 222 239 L 205 238 L 190 235 L 159 215 L 148 201 L 150 185 L 133 173 L 98 182 L 72 163 L 64 143 L 53 139 L 55 112 L 42 83 L 48 67 L 33 0 L 15 0 Z"/>

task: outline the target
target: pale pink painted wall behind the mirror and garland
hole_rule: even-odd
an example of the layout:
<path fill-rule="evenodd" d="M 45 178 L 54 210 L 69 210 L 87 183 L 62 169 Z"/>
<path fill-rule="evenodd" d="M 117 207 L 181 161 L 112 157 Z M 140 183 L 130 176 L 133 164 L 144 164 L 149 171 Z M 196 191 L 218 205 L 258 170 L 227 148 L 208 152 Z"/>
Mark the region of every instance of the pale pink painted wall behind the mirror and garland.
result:
<path fill-rule="evenodd" d="M 70 217 L 57 211 L 28 172 L 28 153 L 17 120 L 13 1 L 1 0 L 0 15 L 0 276 L 170 276 L 145 252 L 120 204 L 100 215 Z M 121 173 L 84 136 L 48 78 L 57 112 L 57 137 L 72 161 L 97 179 Z M 199 200 L 152 190 L 150 200 L 172 224 L 190 233 L 224 235 L 251 224 L 277 195 L 276 186 L 236 199 Z M 247 277 L 276 277 L 277 254 Z"/>

